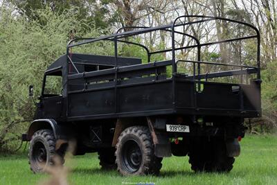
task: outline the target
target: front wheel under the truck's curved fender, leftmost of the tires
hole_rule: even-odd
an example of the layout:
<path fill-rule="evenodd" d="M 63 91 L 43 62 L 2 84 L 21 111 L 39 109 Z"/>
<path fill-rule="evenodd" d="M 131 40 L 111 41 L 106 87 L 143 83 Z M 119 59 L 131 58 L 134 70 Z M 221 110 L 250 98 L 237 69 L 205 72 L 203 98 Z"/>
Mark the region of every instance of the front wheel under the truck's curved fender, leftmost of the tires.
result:
<path fill-rule="evenodd" d="M 41 173 L 46 166 L 64 163 L 64 152 L 55 151 L 55 136 L 52 130 L 38 130 L 33 134 L 29 147 L 29 164 L 33 173 Z"/>

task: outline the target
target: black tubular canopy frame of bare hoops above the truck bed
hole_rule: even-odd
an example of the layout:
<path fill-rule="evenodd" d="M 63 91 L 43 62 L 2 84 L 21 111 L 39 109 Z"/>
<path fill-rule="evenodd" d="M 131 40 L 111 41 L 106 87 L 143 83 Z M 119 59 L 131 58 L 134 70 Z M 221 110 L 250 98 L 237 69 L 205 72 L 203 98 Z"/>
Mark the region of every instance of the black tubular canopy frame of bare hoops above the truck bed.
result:
<path fill-rule="evenodd" d="M 182 18 L 202 18 L 200 20 L 197 21 L 184 21 L 181 23 L 177 23 L 178 20 L 182 19 Z M 216 41 L 216 42 L 208 42 L 208 43 L 200 43 L 199 39 L 197 39 L 196 37 L 194 37 L 193 35 L 189 35 L 187 33 L 181 33 L 179 31 L 176 31 L 175 28 L 179 27 L 179 26 L 185 26 L 185 25 L 192 25 L 192 24 L 199 24 L 199 23 L 203 23 L 206 21 L 217 21 L 217 20 L 222 20 L 222 21 L 229 21 L 229 22 L 233 22 L 233 23 L 237 23 L 237 24 L 242 24 L 244 26 L 247 26 L 249 28 L 251 28 L 252 30 L 254 30 L 256 32 L 256 35 L 250 35 L 250 36 L 244 36 L 244 37 L 238 37 L 238 38 L 233 38 L 233 39 L 224 39 L 224 40 L 220 40 L 220 41 Z M 127 30 L 123 33 L 120 33 L 120 30 L 125 30 L 128 28 L 138 28 L 137 30 Z M 136 42 L 130 42 L 127 40 L 123 40 L 126 37 L 131 37 L 134 35 L 141 35 L 143 33 L 150 33 L 152 31 L 157 31 L 157 30 L 163 30 L 163 31 L 168 31 L 171 32 L 171 43 L 172 43 L 172 48 L 171 49 L 164 49 L 164 50 L 160 50 L 160 51 L 151 51 L 148 49 L 148 47 L 144 46 L 143 44 L 139 44 Z M 196 44 L 195 45 L 190 45 L 190 46 L 183 46 L 183 47 L 179 47 L 179 48 L 175 48 L 175 34 L 181 34 L 181 35 L 186 35 L 188 37 L 191 37 L 192 39 L 195 40 Z M 257 79 L 260 79 L 260 32 L 258 30 L 258 28 L 256 28 L 255 26 L 253 26 L 252 24 L 248 24 L 245 23 L 243 21 L 236 21 L 233 19 L 227 19 L 227 18 L 222 18 L 222 17 L 211 17 L 211 16 L 204 16 L 204 15 L 183 15 L 183 16 L 179 16 L 177 17 L 172 24 L 166 25 L 166 26 L 157 26 L 157 27 L 145 27 L 145 26 L 126 26 L 126 27 L 122 27 L 119 28 L 116 33 L 112 34 L 112 35 L 107 35 L 107 36 L 102 36 L 102 37 L 98 37 L 98 38 L 77 38 L 77 39 L 72 39 L 67 47 L 66 47 L 66 54 L 69 55 L 69 49 L 73 48 L 75 46 L 81 46 L 83 44 L 89 44 L 89 43 L 93 43 L 93 42 L 98 42 L 101 40 L 108 40 L 108 41 L 114 41 L 114 56 L 115 56 L 115 67 L 118 67 L 117 64 L 117 58 L 118 58 L 118 42 L 123 42 L 126 44 L 134 44 L 136 46 L 141 46 L 143 49 L 145 49 L 145 51 L 148 53 L 148 62 L 150 62 L 150 58 L 151 55 L 153 54 L 157 54 L 157 53 L 167 53 L 170 52 L 172 53 L 172 78 L 174 78 L 174 76 L 177 73 L 177 62 L 175 59 L 175 51 L 181 50 L 181 49 L 192 49 L 192 48 L 197 48 L 197 62 L 193 62 L 193 76 L 195 76 L 195 64 L 197 64 L 197 73 L 199 76 L 200 73 L 200 64 L 205 64 L 205 62 L 201 62 L 201 47 L 202 46 L 210 46 L 213 44 L 221 44 L 221 43 L 225 43 L 225 42 L 234 42 L 234 41 L 238 41 L 238 40 L 243 40 L 243 39 L 253 39 L 256 38 L 257 39 L 257 62 L 256 65 L 257 67 L 255 67 L 257 69 Z M 82 42 L 77 42 L 77 43 L 73 43 L 75 41 L 78 40 L 84 40 Z M 67 59 L 67 65 L 69 63 L 73 62 L 70 60 L 70 58 Z M 180 61 L 181 62 L 181 61 Z M 185 61 L 183 61 L 185 62 Z M 228 64 L 226 64 L 228 65 Z M 245 67 L 243 65 L 240 65 L 240 67 Z M 253 68 L 250 67 L 249 68 Z M 200 80 L 200 79 L 198 79 Z"/>

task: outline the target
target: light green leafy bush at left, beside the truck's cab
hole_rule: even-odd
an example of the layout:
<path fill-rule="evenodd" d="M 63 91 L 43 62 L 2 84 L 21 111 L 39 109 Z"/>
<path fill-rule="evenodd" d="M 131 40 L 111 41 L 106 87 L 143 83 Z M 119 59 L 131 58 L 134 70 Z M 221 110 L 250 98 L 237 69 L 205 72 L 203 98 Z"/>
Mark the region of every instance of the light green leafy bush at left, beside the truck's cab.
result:
<path fill-rule="evenodd" d="M 58 14 L 49 9 L 37 10 L 37 20 L 28 20 L 2 8 L 0 10 L 0 151 L 15 148 L 20 134 L 26 132 L 33 117 L 34 104 L 28 98 L 28 85 L 38 96 L 44 70 L 66 52 L 69 33 L 75 37 L 98 36 L 98 30 L 84 29 L 86 20 L 70 11 Z M 95 53 L 105 53 L 91 46 Z M 107 52 L 106 52 L 107 53 Z"/>

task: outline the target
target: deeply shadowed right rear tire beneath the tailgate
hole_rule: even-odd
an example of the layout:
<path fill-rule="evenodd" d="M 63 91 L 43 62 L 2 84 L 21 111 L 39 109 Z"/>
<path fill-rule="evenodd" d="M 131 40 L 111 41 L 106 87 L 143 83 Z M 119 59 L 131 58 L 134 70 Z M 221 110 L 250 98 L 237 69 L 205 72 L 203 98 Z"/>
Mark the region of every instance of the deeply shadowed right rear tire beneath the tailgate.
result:
<path fill-rule="evenodd" d="M 198 139 L 188 153 L 191 169 L 195 172 L 229 172 L 233 168 L 234 157 L 226 155 L 224 139 Z"/>

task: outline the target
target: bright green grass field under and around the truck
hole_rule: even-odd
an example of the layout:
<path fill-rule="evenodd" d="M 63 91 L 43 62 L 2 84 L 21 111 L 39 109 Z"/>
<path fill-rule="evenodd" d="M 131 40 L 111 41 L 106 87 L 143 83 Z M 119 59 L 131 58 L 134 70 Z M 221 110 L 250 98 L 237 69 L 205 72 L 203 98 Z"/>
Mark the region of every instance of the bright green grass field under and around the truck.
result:
<path fill-rule="evenodd" d="M 116 171 L 100 170 L 96 154 L 73 157 L 66 162 L 70 184 L 277 184 L 277 136 L 246 136 L 242 152 L 231 173 L 193 173 L 188 157 L 163 159 L 161 175 L 122 177 Z M 39 184 L 48 175 L 34 175 L 26 155 L 0 157 L 0 185 Z"/>

